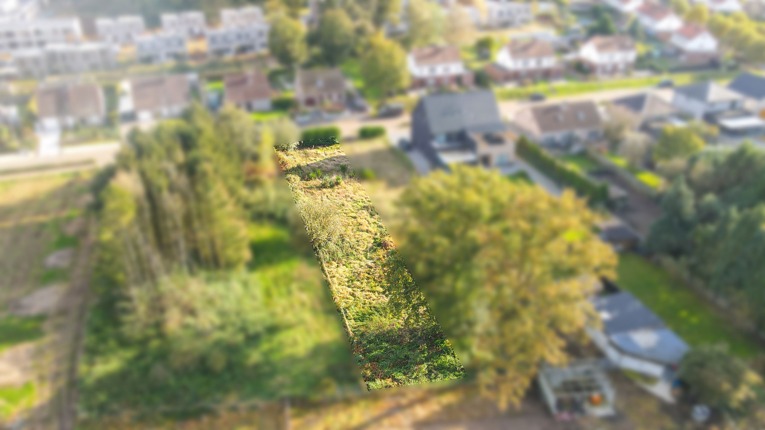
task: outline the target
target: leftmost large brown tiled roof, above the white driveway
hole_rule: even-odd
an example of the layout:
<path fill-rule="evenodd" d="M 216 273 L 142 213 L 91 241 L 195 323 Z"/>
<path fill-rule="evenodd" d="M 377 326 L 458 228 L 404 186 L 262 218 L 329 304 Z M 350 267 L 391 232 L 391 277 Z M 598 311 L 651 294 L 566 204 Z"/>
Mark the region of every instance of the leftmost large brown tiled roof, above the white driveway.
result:
<path fill-rule="evenodd" d="M 105 116 L 103 90 L 96 83 L 63 83 L 42 86 L 35 95 L 42 117 L 72 116 L 77 119 Z"/>

